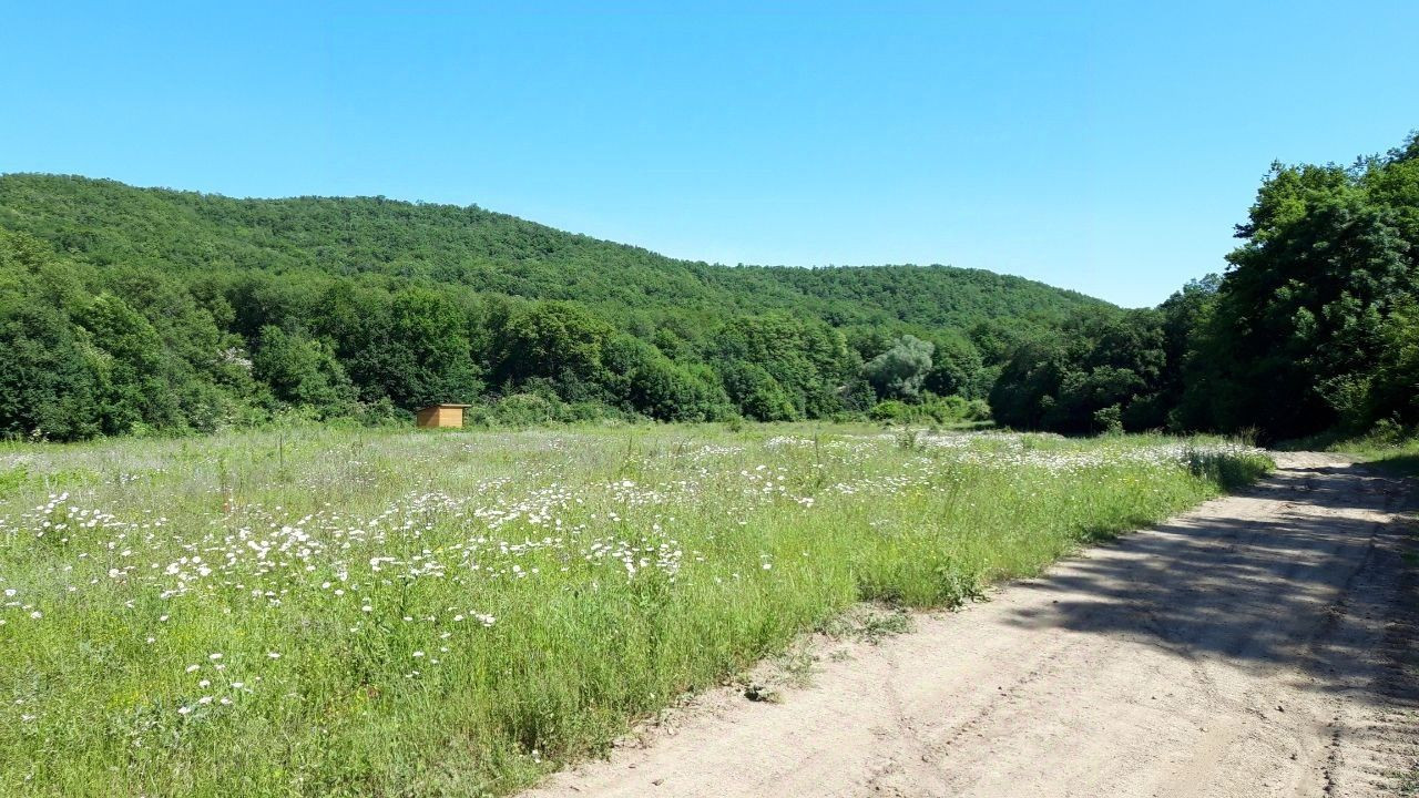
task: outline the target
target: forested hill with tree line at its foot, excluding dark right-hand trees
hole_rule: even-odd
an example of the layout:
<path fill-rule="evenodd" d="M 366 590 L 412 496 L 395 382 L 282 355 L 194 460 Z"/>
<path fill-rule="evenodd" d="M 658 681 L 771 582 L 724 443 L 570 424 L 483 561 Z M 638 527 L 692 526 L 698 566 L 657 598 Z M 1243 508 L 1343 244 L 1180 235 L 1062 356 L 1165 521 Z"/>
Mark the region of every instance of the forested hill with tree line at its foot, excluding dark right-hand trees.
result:
<path fill-rule="evenodd" d="M 978 417 L 1023 337 L 1115 312 L 981 270 L 690 263 L 478 207 L 0 176 L 0 437 L 431 402 Z"/>

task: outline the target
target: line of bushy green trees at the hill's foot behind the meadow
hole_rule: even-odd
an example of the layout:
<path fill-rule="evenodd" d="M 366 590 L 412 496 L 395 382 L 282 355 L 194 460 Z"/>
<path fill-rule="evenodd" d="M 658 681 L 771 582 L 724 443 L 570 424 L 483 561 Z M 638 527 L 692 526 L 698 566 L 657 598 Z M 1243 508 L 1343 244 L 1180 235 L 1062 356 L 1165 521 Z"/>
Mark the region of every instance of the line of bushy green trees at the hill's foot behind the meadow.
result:
<path fill-rule="evenodd" d="M 379 422 L 455 400 L 538 422 L 799 420 L 911 399 L 945 420 L 983 416 L 988 382 L 964 338 L 945 337 L 932 359 L 934 345 L 910 335 L 849 338 L 771 312 L 644 339 L 563 300 L 373 275 L 184 278 L 95 267 L 3 230 L 0 337 L 0 429 L 54 440 L 210 432 L 281 413 Z M 920 372 L 905 381 L 888 373 L 902 341 Z M 922 403 L 931 388 L 958 398 Z"/>

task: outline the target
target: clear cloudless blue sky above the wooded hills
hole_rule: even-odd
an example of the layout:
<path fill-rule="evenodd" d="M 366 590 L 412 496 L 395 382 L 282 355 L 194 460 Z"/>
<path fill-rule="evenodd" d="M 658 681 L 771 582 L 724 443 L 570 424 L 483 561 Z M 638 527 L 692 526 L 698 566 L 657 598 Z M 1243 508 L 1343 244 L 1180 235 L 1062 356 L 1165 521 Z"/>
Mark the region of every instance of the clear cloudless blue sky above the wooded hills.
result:
<path fill-rule="evenodd" d="M 1220 271 L 1273 159 L 1413 128 L 1413 0 L 0 13 L 0 172 L 477 203 L 694 260 L 949 263 L 1124 305 Z"/>

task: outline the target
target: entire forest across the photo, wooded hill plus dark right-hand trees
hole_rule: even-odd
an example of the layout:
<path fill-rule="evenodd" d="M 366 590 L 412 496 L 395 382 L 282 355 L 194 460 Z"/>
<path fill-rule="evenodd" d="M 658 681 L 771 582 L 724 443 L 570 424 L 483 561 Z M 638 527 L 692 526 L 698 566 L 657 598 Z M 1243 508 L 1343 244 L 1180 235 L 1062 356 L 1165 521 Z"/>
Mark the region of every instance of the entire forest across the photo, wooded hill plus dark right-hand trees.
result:
<path fill-rule="evenodd" d="M 941 266 L 688 263 L 478 207 L 6 175 L 0 434 L 433 402 L 514 423 L 993 413 L 1261 440 L 1419 423 L 1419 136 L 1273 165 L 1236 233 L 1225 274 L 1120 310 Z"/>

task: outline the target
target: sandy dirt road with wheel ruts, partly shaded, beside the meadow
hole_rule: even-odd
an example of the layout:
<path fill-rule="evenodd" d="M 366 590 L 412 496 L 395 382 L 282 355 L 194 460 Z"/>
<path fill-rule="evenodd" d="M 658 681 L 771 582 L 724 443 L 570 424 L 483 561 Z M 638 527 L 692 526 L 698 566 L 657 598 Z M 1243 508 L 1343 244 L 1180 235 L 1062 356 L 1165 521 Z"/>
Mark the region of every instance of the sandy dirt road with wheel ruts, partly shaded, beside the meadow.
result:
<path fill-rule="evenodd" d="M 989 603 L 880 645 L 820 639 L 780 703 L 712 692 L 531 795 L 1405 794 L 1419 663 L 1401 486 L 1277 457 L 1244 494 Z"/>

